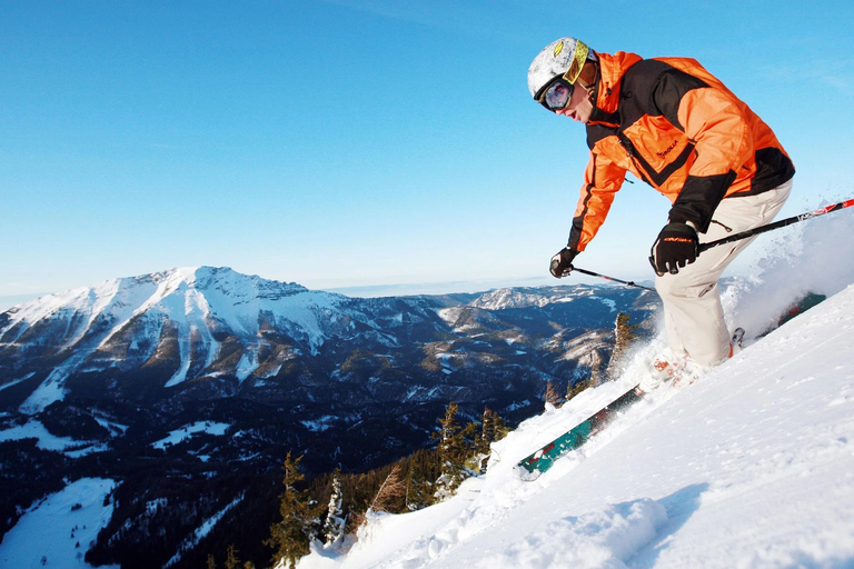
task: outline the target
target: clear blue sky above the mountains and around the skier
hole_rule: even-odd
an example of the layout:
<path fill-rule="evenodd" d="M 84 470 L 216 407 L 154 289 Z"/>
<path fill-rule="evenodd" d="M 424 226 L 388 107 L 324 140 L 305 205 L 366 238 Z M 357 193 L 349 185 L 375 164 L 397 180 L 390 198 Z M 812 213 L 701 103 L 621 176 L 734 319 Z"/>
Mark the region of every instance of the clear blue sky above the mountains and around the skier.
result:
<path fill-rule="evenodd" d="M 792 154 L 782 214 L 811 210 L 854 196 L 852 22 L 851 1 L 0 0 L 0 297 L 201 264 L 553 282 L 587 148 L 526 72 L 563 36 L 697 58 Z M 649 278 L 668 207 L 625 184 L 576 263 Z"/>

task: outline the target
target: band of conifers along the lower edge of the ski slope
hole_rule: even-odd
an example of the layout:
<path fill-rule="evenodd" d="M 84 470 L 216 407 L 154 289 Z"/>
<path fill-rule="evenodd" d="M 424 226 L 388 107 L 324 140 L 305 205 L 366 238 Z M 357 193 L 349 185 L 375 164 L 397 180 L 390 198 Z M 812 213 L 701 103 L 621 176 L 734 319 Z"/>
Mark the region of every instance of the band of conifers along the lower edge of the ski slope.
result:
<path fill-rule="evenodd" d="M 507 435 L 502 417 L 486 408 L 479 421 L 461 425 L 459 408 L 450 402 L 438 420 L 435 448 L 421 449 L 390 465 L 363 473 L 340 470 L 305 479 L 302 457 L 291 453 L 282 463 L 284 492 L 280 520 L 270 526 L 265 545 L 274 550 L 272 567 L 294 567 L 316 548 L 339 548 L 355 539 L 358 529 L 377 512 L 406 513 L 454 496 L 463 481 L 486 470 L 489 446 Z M 217 569 L 208 556 L 208 569 Z M 226 569 L 255 569 L 239 551 L 226 551 Z"/>

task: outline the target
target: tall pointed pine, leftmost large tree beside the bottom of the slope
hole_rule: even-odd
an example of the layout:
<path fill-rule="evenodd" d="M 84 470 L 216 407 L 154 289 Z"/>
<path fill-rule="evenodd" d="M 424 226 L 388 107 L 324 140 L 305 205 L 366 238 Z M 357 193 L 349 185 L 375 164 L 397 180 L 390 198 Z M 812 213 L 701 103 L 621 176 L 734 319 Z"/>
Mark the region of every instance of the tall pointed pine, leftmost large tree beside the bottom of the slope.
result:
<path fill-rule="evenodd" d="M 270 526 L 270 538 L 264 543 L 276 550 L 272 556 L 274 565 L 281 562 L 285 568 L 294 567 L 305 555 L 310 552 L 309 543 L 315 538 L 315 526 L 320 509 L 312 502 L 305 491 L 295 488 L 305 476 L 299 471 L 299 462 L 302 457 L 291 459 L 288 452 L 282 470 L 285 478 L 285 492 L 279 496 L 279 513 L 281 521 Z"/>

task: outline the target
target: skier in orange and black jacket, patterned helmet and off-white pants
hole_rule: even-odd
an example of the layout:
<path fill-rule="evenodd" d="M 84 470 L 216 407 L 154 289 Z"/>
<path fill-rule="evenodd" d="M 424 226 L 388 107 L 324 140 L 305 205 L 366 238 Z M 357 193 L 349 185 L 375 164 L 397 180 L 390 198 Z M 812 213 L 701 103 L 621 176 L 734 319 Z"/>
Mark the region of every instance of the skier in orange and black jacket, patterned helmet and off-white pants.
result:
<path fill-rule="evenodd" d="M 672 203 L 649 256 L 669 349 L 642 389 L 726 360 L 732 346 L 717 280 L 752 240 L 701 256 L 697 247 L 765 224 L 783 207 L 795 169 L 774 132 L 696 60 L 598 53 L 574 38 L 534 59 L 528 89 L 549 111 L 586 124 L 590 149 L 569 241 L 552 258 L 552 274 L 569 274 L 632 172 Z"/>

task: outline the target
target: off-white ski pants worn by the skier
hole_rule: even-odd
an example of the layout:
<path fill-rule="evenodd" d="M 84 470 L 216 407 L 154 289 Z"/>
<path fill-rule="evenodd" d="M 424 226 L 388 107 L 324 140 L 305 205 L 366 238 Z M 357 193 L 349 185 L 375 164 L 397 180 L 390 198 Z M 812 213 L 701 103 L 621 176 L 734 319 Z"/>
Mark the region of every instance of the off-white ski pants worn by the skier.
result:
<path fill-rule="evenodd" d="M 792 180 L 773 190 L 745 198 L 725 198 L 712 216 L 712 223 L 699 242 L 764 226 L 779 212 L 792 191 Z M 674 353 L 685 353 L 703 366 L 716 366 L 729 357 L 729 331 L 724 320 L 717 279 L 748 244 L 756 239 L 742 239 L 713 247 L 677 274 L 655 279 L 655 288 L 664 302 L 667 341 Z"/>

